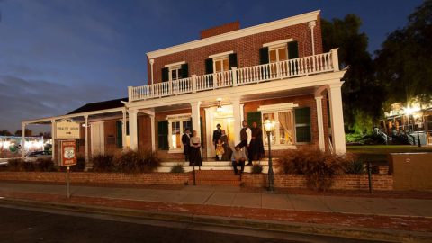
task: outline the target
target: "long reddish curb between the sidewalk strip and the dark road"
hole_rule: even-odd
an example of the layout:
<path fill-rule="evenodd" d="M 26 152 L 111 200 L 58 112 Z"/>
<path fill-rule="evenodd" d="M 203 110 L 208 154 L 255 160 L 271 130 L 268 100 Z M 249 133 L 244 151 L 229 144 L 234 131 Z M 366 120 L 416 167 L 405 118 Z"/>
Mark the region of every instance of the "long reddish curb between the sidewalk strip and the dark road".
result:
<path fill-rule="evenodd" d="M 130 217 L 145 220 L 167 220 L 188 222 L 219 227 L 236 227 L 241 229 L 259 229 L 272 232 L 290 232 L 318 236 L 341 238 L 374 239 L 389 242 L 430 242 L 432 233 L 402 231 L 391 229 L 368 229 L 322 225 L 316 223 L 298 223 L 275 220 L 250 220 L 241 218 L 228 218 L 220 216 L 202 216 L 162 211 L 142 211 L 112 207 L 90 205 L 76 205 L 56 202 L 37 202 L 12 198 L 1 198 L 0 205 L 22 206 L 27 208 L 40 208 L 59 211 L 76 211 L 94 214 L 105 214 L 121 217 Z"/>

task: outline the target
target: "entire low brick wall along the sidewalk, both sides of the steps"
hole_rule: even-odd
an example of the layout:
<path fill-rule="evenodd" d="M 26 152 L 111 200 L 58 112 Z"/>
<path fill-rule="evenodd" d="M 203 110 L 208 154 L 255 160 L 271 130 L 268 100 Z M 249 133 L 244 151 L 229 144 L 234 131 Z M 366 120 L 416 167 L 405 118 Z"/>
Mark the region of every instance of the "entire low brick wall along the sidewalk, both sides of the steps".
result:
<path fill-rule="evenodd" d="M 72 172 L 72 183 L 80 184 L 191 184 L 188 173 L 86 173 Z M 372 175 L 374 190 L 393 190 L 392 175 Z M 44 183 L 64 183 L 66 173 L 54 172 L 0 172 L 0 181 L 25 181 Z M 248 187 L 264 187 L 267 175 L 248 174 L 242 176 L 242 183 Z M 367 175 L 341 175 L 336 177 L 334 190 L 368 190 Z M 275 187 L 306 188 L 306 179 L 302 175 L 275 175 Z"/>

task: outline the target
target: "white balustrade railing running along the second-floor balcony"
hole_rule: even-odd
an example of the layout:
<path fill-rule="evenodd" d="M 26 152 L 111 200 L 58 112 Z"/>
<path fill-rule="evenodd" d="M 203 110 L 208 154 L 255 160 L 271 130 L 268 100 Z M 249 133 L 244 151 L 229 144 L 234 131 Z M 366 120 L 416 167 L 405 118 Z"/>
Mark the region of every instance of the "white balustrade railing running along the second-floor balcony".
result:
<path fill-rule="evenodd" d="M 232 67 L 231 70 L 226 72 L 202 76 L 193 75 L 153 85 L 129 86 L 129 102 L 205 92 L 239 85 L 253 85 L 285 78 L 336 72 L 338 70 L 338 49 L 331 49 L 328 53 L 304 58 L 289 59 L 253 67 Z"/>

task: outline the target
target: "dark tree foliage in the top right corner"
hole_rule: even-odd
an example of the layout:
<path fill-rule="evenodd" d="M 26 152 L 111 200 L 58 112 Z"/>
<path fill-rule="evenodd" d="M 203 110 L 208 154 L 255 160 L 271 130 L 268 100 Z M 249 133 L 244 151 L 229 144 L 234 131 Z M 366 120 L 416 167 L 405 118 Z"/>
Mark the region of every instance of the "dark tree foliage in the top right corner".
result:
<path fill-rule="evenodd" d="M 377 77 L 385 84 L 387 103 L 409 102 L 432 94 L 432 1 L 424 1 L 376 51 Z"/>

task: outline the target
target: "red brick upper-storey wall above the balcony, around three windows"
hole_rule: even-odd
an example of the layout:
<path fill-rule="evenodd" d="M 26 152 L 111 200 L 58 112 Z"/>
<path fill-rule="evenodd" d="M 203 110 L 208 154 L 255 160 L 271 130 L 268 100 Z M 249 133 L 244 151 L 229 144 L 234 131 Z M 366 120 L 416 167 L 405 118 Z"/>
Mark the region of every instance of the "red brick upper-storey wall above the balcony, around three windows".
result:
<path fill-rule="evenodd" d="M 308 23 L 300 23 L 274 31 L 265 31 L 235 40 L 227 40 L 200 48 L 188 49 L 170 55 L 154 58 L 154 82 L 161 82 L 161 69 L 165 65 L 180 61 L 185 61 L 188 63 L 189 76 L 204 75 L 204 61 L 206 58 L 213 54 L 223 53 L 231 50 L 237 53 L 238 68 L 257 66 L 259 65 L 259 49 L 263 47 L 263 44 L 290 38 L 298 41 L 300 57 L 312 55 L 311 29 L 308 27 Z M 322 53 L 320 15 L 318 16 L 317 25 L 314 28 L 314 40 L 315 53 Z M 148 84 L 150 84 L 150 80 L 151 70 L 148 62 Z"/>

